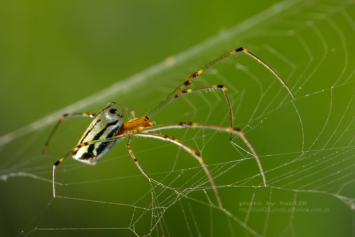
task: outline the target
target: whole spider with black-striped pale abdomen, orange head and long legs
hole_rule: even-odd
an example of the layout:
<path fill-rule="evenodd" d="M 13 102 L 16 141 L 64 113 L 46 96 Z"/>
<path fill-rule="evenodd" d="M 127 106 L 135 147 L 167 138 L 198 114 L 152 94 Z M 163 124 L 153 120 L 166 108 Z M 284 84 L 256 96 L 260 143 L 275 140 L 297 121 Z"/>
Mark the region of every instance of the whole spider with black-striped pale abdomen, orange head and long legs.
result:
<path fill-rule="evenodd" d="M 148 174 L 142 169 L 140 164 L 138 163 L 138 160 L 136 159 L 135 155 L 133 154 L 133 151 L 131 149 L 131 140 L 132 137 L 134 136 L 142 136 L 142 137 L 151 137 L 151 138 L 156 138 L 160 140 L 165 140 L 172 142 L 182 149 L 184 149 L 187 153 L 189 153 L 192 157 L 198 160 L 200 163 L 201 167 L 204 169 L 211 185 L 214 191 L 214 195 L 216 197 L 216 201 L 218 203 L 218 206 L 222 208 L 222 202 L 218 194 L 218 190 L 216 188 L 216 185 L 213 180 L 213 176 L 211 175 L 207 165 L 202 159 L 202 156 L 198 154 L 193 148 L 190 146 L 186 145 L 182 141 L 178 140 L 177 138 L 169 135 L 162 135 L 162 134 L 157 134 L 156 131 L 159 130 L 164 130 L 164 129 L 177 129 L 177 128 L 201 128 L 201 129 L 212 129 L 215 131 L 222 131 L 222 132 L 227 132 L 230 134 L 230 139 L 232 138 L 232 135 L 239 135 L 244 143 L 249 147 L 251 153 L 255 157 L 255 160 L 257 162 L 257 165 L 260 170 L 260 174 L 263 179 L 263 184 L 264 186 L 267 186 L 266 184 L 266 178 L 264 174 L 264 170 L 261 166 L 260 159 L 247 139 L 247 137 L 244 135 L 243 131 L 237 128 L 233 127 L 233 113 L 232 113 L 232 108 L 231 104 L 226 92 L 226 88 L 223 85 L 209 85 L 209 86 L 203 86 L 203 87 L 197 87 L 197 88 L 192 88 L 192 89 L 186 89 L 193 81 L 193 79 L 199 75 L 201 75 L 206 69 L 212 67 L 214 64 L 218 63 L 219 61 L 231 56 L 235 55 L 238 53 L 244 52 L 253 59 L 257 60 L 260 64 L 262 64 L 264 67 L 268 68 L 276 77 L 277 79 L 283 84 L 283 86 L 287 89 L 288 93 L 291 95 L 291 97 L 294 99 L 294 96 L 291 92 L 291 90 L 287 87 L 287 85 L 284 83 L 284 81 L 281 79 L 281 77 L 276 73 L 274 69 L 272 69 L 270 66 L 268 66 L 263 60 L 261 60 L 259 57 L 257 57 L 255 54 L 251 53 L 249 50 L 246 48 L 240 47 L 238 49 L 235 49 L 215 60 L 213 60 L 211 63 L 208 65 L 204 66 L 200 70 L 194 72 L 185 82 L 183 82 L 181 85 L 179 85 L 170 95 L 168 95 L 158 106 L 156 106 L 153 110 L 151 110 L 147 115 L 142 116 L 142 117 L 136 117 L 135 112 L 133 110 L 128 110 L 127 109 L 127 114 L 129 120 L 125 123 L 124 119 L 124 110 L 123 108 L 118 105 L 115 102 L 110 102 L 106 105 L 104 109 L 102 109 L 100 112 L 97 114 L 95 113 L 68 113 L 68 114 L 63 114 L 61 118 L 59 119 L 58 123 L 55 125 L 53 128 L 51 134 L 49 135 L 43 150 L 42 154 L 45 152 L 47 149 L 47 146 L 49 144 L 49 141 L 51 140 L 54 132 L 57 130 L 59 124 L 66 118 L 69 117 L 77 117 L 77 116 L 82 116 L 82 117 L 91 117 L 94 118 L 92 122 L 90 123 L 89 127 L 86 129 L 82 137 L 80 138 L 79 142 L 77 145 L 70 151 L 68 152 L 65 156 L 61 157 L 58 159 L 53 164 L 53 179 L 52 179 L 52 184 L 53 184 L 53 197 L 56 197 L 56 190 L 55 190 L 55 172 L 57 166 L 62 163 L 68 156 L 72 156 L 77 161 L 83 162 L 85 164 L 89 165 L 95 165 L 105 154 L 108 152 L 113 145 L 115 145 L 118 141 L 123 140 L 124 138 L 128 138 L 127 142 L 127 149 L 129 154 L 131 155 L 133 161 L 137 165 L 138 169 L 141 170 L 142 174 L 150 180 L 150 177 Z M 149 119 L 151 119 L 154 115 L 156 115 L 165 105 L 167 105 L 169 102 L 178 99 L 181 95 L 189 94 L 192 92 L 196 91 L 201 91 L 201 90 L 210 90 L 210 89 L 219 89 L 222 90 L 224 93 L 224 97 L 226 99 L 226 102 L 228 104 L 229 108 L 229 114 L 230 114 L 230 126 L 222 126 L 222 125 L 216 125 L 216 124 L 205 124 L 205 123 L 194 123 L 194 122 L 180 122 L 180 123 L 167 123 L 167 124 L 162 124 L 162 125 L 155 125 L 152 122 L 150 122 Z"/>

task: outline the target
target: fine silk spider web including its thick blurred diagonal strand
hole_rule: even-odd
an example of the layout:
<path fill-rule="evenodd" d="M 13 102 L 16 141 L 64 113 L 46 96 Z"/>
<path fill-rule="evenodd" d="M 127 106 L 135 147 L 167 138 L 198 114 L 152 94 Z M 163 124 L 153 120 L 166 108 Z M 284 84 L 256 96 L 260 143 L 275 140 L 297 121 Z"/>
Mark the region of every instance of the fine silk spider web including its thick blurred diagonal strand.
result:
<path fill-rule="evenodd" d="M 353 1 L 281 2 L 165 62 L 1 136 L 1 232 L 8 236 L 350 236 L 355 220 L 354 14 Z M 276 69 L 296 100 L 246 55 L 219 63 L 193 85 L 228 88 L 234 125 L 260 156 L 268 187 L 262 186 L 257 164 L 240 138 L 229 142 L 229 134 L 184 129 L 162 133 L 202 154 L 223 209 L 196 160 L 174 144 L 143 138 L 134 138 L 132 149 L 151 181 L 121 142 L 94 167 L 66 160 L 57 169 L 59 197 L 51 197 L 53 162 L 71 149 L 89 123 L 86 118 L 63 123 L 48 153 L 40 156 L 62 113 L 95 112 L 116 101 L 143 115 L 196 68 L 238 46 Z M 223 94 L 208 91 L 181 96 L 153 120 L 228 126 L 229 113 Z"/>

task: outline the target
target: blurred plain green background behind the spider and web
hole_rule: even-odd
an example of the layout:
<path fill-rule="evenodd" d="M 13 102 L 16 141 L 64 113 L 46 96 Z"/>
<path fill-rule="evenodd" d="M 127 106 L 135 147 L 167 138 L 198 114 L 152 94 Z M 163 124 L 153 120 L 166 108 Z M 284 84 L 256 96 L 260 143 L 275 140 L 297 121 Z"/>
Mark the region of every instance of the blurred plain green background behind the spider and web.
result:
<path fill-rule="evenodd" d="M 276 2 L 1 2 L 0 136 L 35 121 L 40 129 L 9 142 L 0 138 L 0 236 L 350 236 L 355 6 L 283 1 L 270 8 Z M 233 142 L 242 148 L 207 130 L 167 131 L 202 153 L 225 210 L 208 204 L 206 196 L 215 203 L 213 191 L 196 161 L 174 145 L 139 138 L 133 150 L 155 180 L 172 188 L 202 185 L 206 194 L 197 188 L 185 199 L 148 183 L 122 142 L 97 166 L 71 158 L 61 164 L 60 197 L 52 198 L 52 164 L 89 123 L 63 123 L 40 156 L 61 113 L 97 112 L 115 101 L 144 115 L 196 69 L 240 46 L 275 68 L 296 100 L 242 55 L 195 85 L 228 88 L 235 126 L 260 155 L 269 187 L 258 187 L 257 166 L 240 139 Z M 146 70 L 152 66 L 156 71 Z M 159 124 L 189 120 L 228 125 L 223 95 L 187 95 L 154 118 Z M 278 208 L 295 202 L 329 212 L 248 214 L 240 209 L 244 202 Z"/>

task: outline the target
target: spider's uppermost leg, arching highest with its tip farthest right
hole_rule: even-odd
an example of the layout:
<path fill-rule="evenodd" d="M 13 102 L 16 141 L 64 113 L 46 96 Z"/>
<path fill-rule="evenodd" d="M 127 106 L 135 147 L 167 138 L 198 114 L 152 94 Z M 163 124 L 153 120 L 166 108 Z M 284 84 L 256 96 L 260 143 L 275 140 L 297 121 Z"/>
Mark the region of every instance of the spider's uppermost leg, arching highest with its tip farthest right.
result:
<path fill-rule="evenodd" d="M 204 66 L 203 68 L 201 68 L 200 70 L 194 72 L 192 75 L 190 75 L 190 77 L 184 82 L 182 83 L 180 86 L 178 86 L 169 96 L 167 96 L 160 104 L 158 104 L 157 107 L 155 107 L 152 111 L 149 112 L 148 117 L 152 118 L 154 115 L 156 115 L 165 105 L 167 105 L 169 102 L 171 102 L 172 100 L 175 99 L 176 95 L 182 91 L 184 88 L 188 87 L 193 79 L 195 77 L 198 77 L 199 75 L 201 75 L 205 70 L 207 70 L 208 68 L 211 68 L 213 65 L 215 65 L 216 63 L 218 63 L 219 61 L 235 55 L 235 54 L 239 54 L 239 53 L 246 53 L 247 55 L 249 55 L 250 57 L 252 57 L 253 59 L 255 59 L 256 61 L 258 61 L 261 65 L 263 65 L 265 68 L 268 68 L 276 77 L 277 79 L 281 82 L 281 84 L 283 84 L 283 86 L 287 89 L 288 93 L 292 96 L 293 99 L 295 99 L 295 97 L 293 96 L 291 90 L 287 87 L 286 83 L 284 82 L 283 79 L 281 79 L 281 77 L 279 76 L 279 74 L 273 69 L 271 68 L 267 63 L 265 63 L 261 58 L 259 58 L 258 56 L 256 56 L 255 54 L 251 53 L 249 50 L 247 50 L 246 48 L 240 47 L 238 49 L 235 49 L 215 60 L 213 60 L 211 63 L 209 63 L 208 65 Z"/>

